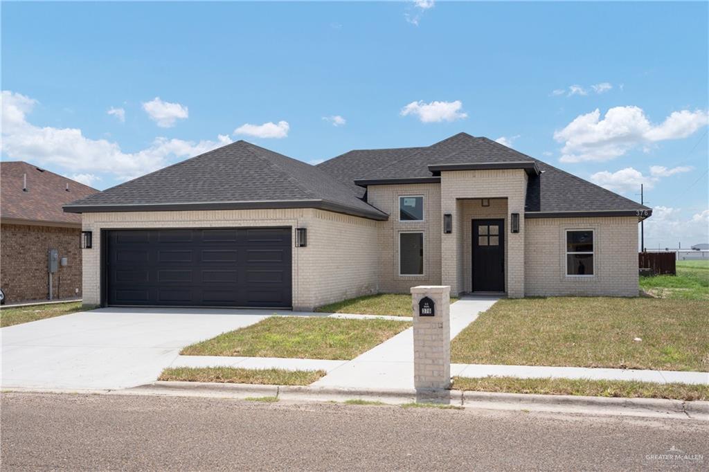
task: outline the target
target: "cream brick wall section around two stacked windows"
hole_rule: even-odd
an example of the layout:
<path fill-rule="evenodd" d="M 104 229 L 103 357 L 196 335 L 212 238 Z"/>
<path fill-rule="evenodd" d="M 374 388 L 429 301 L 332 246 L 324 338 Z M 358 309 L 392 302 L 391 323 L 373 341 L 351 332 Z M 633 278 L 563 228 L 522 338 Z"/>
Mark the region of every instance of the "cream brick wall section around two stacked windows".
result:
<path fill-rule="evenodd" d="M 423 196 L 423 221 L 399 221 L 398 198 Z M 441 283 L 441 234 L 439 184 L 373 185 L 367 189 L 367 201 L 389 214 L 380 221 L 379 288 L 388 293 L 408 293 L 417 285 Z M 423 276 L 400 276 L 398 238 L 401 232 L 423 232 Z"/>

